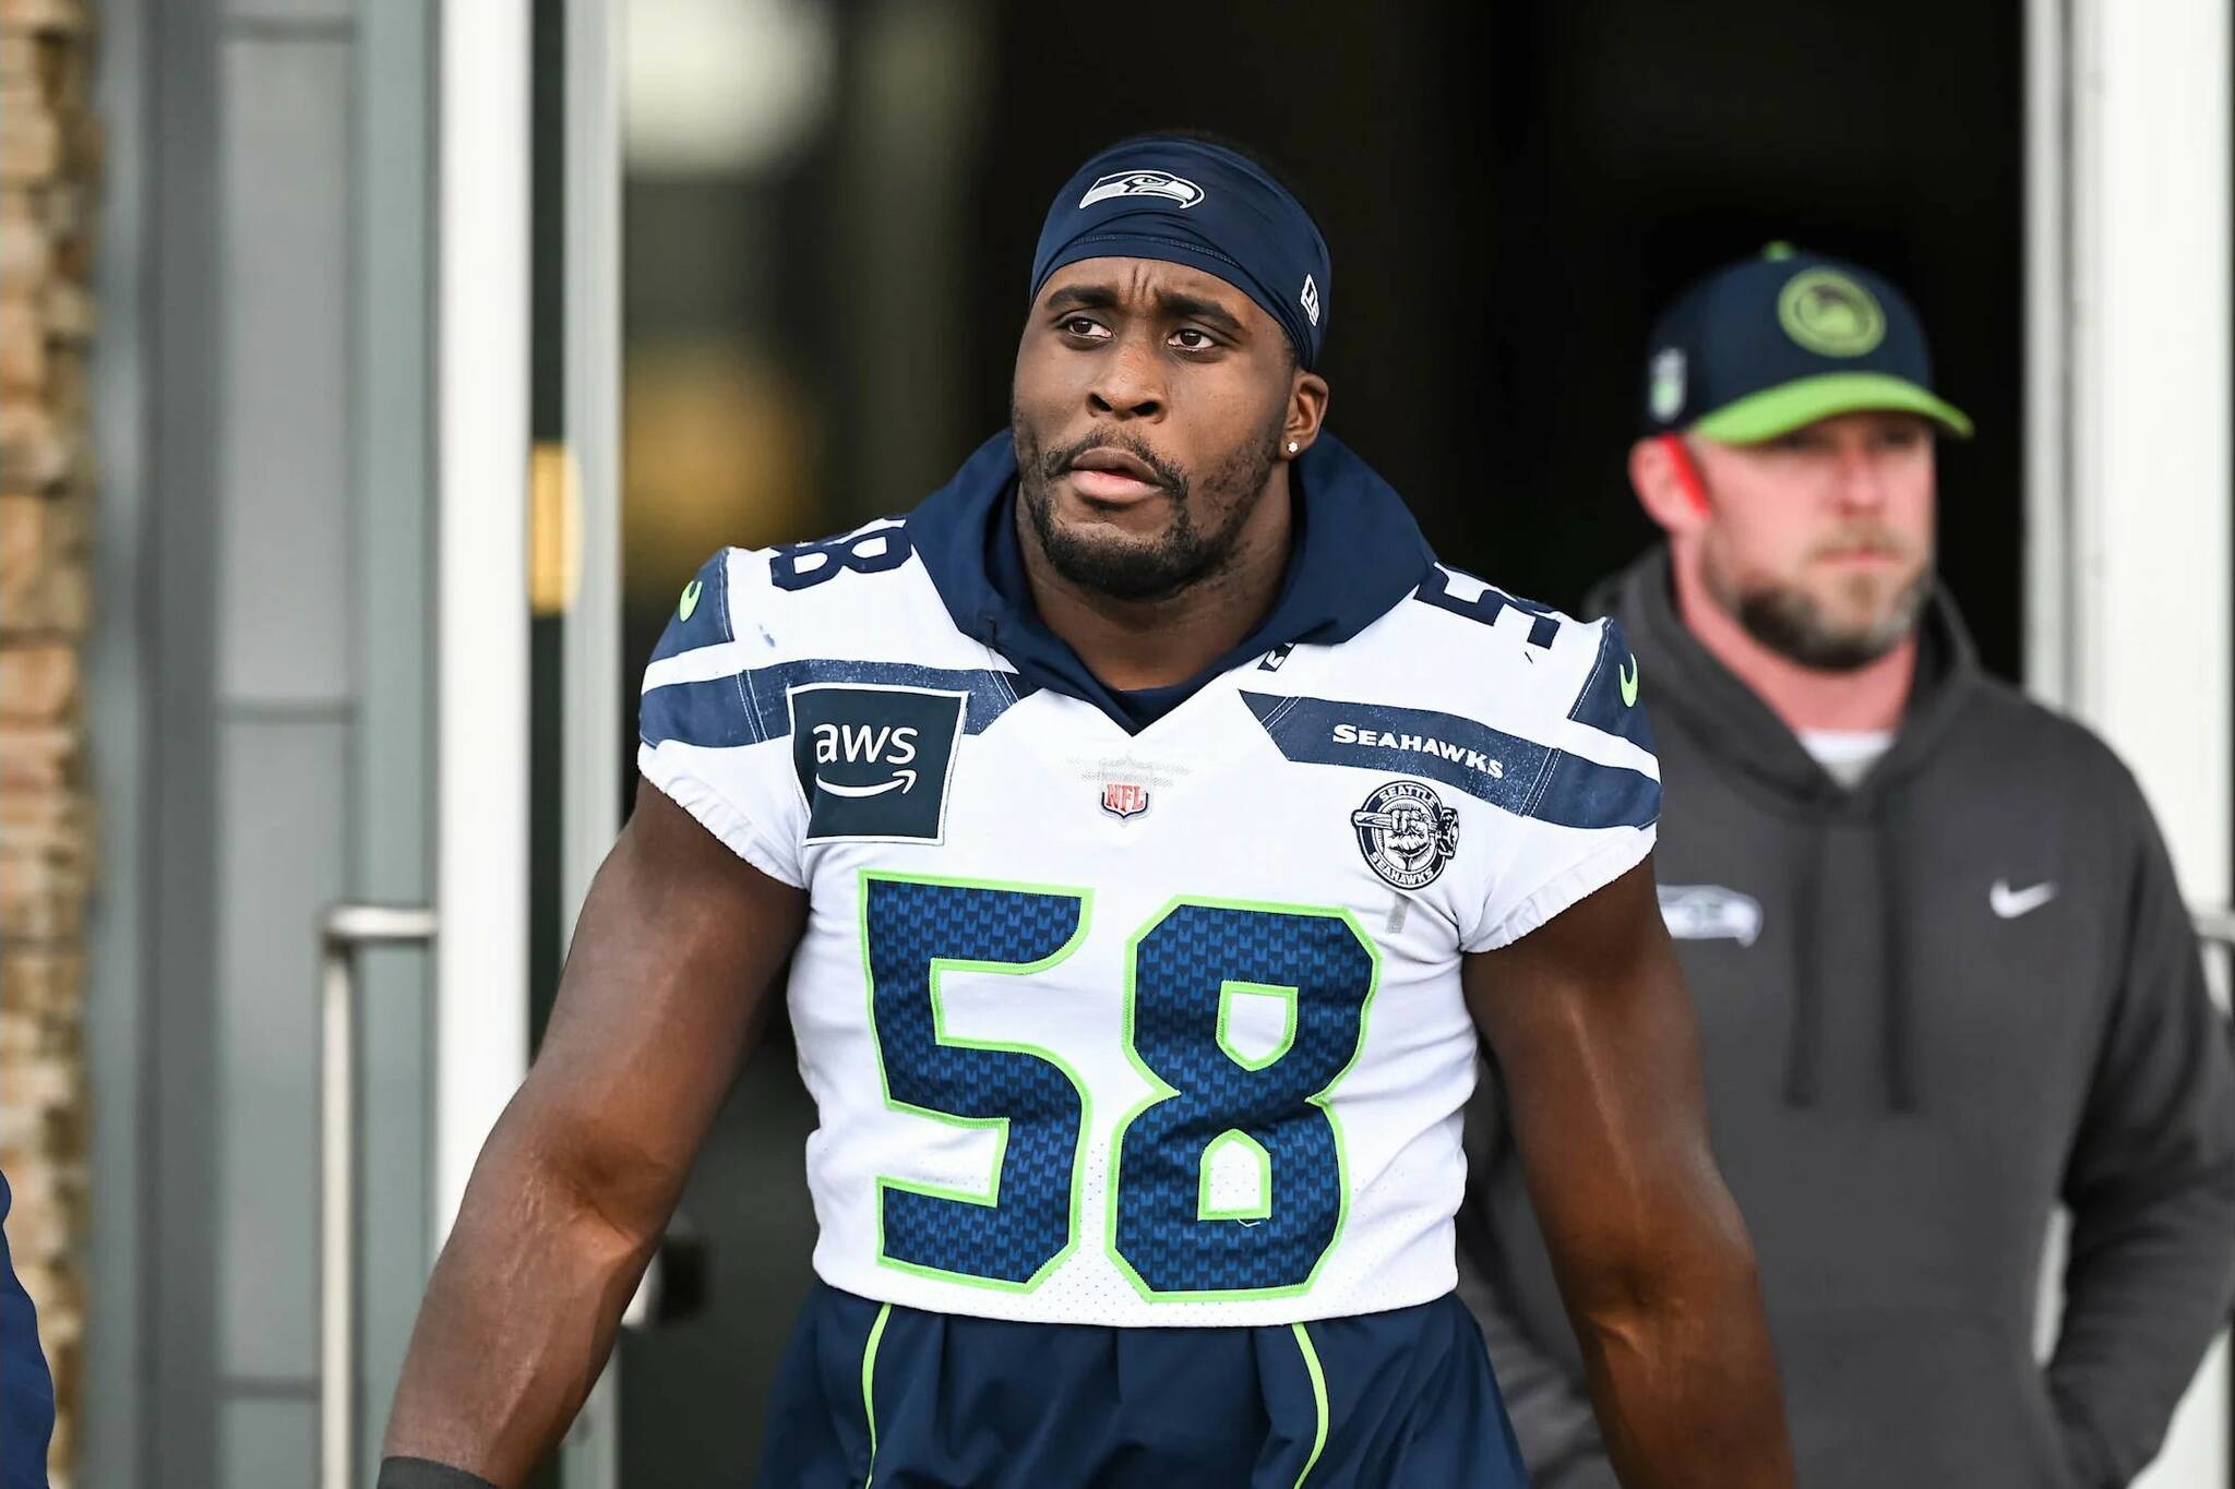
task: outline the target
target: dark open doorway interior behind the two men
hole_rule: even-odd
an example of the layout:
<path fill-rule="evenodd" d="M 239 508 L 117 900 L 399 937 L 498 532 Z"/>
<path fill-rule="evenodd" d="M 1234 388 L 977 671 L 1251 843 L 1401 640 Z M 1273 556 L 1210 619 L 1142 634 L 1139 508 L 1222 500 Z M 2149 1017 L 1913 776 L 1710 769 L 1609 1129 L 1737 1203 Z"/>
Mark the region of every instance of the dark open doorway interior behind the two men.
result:
<path fill-rule="evenodd" d="M 856 16 L 874 7 L 831 9 L 845 51 Z M 1942 453 L 1942 569 L 1987 665 L 2016 676 L 2016 0 L 1882 0 L 1868 11 L 1725 0 L 1712 18 L 1656 0 L 1321 0 L 1278 11 L 1187 0 L 1135 4 L 1118 22 L 1001 0 L 979 20 L 970 36 L 986 92 L 952 183 L 970 203 L 954 290 L 968 313 L 952 346 L 968 413 L 943 453 L 905 473 L 905 489 L 849 491 L 847 451 L 876 440 L 892 411 L 865 404 L 845 357 L 816 337 L 849 292 L 849 254 L 818 246 L 863 221 L 874 232 L 907 223 L 878 223 L 838 196 L 845 174 L 827 170 L 836 143 L 753 188 L 782 203 L 787 228 L 740 237 L 776 268 L 733 299 L 764 301 L 753 315 L 798 346 L 831 467 L 822 487 L 847 493 L 780 536 L 901 511 L 997 429 L 1048 192 L 1097 145 L 1191 125 L 1269 156 L 1328 234 L 1330 426 L 1410 498 L 1444 558 L 1562 607 L 1652 536 L 1623 460 L 1654 308 L 1770 239 L 1886 272 L 1924 315 L 1942 388 L 1978 420 L 1976 440 Z M 860 76 L 840 69 L 838 85 Z M 720 261 L 720 241 L 688 234 L 691 208 L 673 188 L 633 188 L 626 210 L 630 315 L 686 313 L 659 246 L 688 241 Z M 726 272 L 742 277 L 749 261 Z M 688 569 L 655 576 L 641 589 L 659 598 L 628 614 L 630 699 L 684 578 Z M 758 1462 L 762 1400 L 809 1281 L 809 1127 L 791 1045 L 773 1036 L 684 1199 L 706 1248 L 706 1308 L 624 1342 L 633 1489 Z"/>

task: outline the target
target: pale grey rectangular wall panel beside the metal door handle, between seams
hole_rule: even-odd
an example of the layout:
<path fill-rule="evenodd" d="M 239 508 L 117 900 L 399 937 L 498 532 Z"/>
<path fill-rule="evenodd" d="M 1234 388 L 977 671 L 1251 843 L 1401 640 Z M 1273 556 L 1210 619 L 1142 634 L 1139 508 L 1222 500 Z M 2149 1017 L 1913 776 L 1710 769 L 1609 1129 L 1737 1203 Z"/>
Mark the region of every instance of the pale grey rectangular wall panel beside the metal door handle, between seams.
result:
<path fill-rule="evenodd" d="M 346 726 L 230 719 L 217 944 L 219 1368 L 317 1368 L 317 913 L 342 891 Z"/>

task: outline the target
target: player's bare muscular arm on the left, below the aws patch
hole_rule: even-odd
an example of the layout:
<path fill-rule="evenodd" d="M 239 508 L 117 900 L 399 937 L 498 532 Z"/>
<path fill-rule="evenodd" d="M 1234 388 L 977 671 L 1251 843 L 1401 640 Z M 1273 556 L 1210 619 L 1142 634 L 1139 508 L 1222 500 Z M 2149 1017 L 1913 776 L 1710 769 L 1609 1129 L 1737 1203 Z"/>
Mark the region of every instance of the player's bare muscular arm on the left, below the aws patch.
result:
<path fill-rule="evenodd" d="M 387 1456 L 514 1485 L 574 1420 L 805 913 L 639 786 L 436 1261 Z"/>

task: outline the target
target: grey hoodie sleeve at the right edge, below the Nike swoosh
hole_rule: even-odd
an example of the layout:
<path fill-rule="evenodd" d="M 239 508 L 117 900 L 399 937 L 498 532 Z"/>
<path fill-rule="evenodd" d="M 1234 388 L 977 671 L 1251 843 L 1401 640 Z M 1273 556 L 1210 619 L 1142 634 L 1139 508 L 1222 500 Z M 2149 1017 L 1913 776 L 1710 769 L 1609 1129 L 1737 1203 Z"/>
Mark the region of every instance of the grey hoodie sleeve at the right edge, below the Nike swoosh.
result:
<path fill-rule="evenodd" d="M 2065 1163 L 2065 1308 L 2049 1395 L 2087 1489 L 2163 1444 L 2235 1295 L 2235 1058 L 2139 786 L 2125 960 Z"/>

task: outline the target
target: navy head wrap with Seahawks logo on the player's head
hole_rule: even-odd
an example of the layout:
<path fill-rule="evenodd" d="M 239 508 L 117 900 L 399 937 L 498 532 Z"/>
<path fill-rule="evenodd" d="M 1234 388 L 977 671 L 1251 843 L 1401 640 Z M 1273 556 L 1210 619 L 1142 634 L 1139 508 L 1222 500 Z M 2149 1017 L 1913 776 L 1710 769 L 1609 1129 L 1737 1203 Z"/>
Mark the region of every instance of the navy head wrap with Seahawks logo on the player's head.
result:
<path fill-rule="evenodd" d="M 1223 145 L 1142 136 L 1080 167 L 1039 230 L 1033 295 L 1080 259 L 1164 259 L 1258 301 L 1314 366 L 1328 339 L 1328 243 L 1312 214 Z"/>

